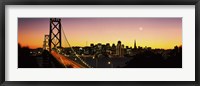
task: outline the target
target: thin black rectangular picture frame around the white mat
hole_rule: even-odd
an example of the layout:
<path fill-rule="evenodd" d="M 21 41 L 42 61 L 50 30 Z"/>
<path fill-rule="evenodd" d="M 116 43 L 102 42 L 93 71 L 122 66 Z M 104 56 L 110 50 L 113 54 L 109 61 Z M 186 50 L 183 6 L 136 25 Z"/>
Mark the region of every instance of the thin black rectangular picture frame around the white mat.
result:
<path fill-rule="evenodd" d="M 200 0 L 1 0 L 0 3 L 2 86 L 199 86 Z M 195 81 L 5 81 L 5 5 L 195 5 Z"/>

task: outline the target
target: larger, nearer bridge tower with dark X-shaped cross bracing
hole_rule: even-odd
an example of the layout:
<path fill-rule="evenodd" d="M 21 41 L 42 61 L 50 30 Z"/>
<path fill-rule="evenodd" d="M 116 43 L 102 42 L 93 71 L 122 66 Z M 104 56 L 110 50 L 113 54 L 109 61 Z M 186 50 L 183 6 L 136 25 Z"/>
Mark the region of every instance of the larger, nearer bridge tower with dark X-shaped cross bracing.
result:
<path fill-rule="evenodd" d="M 61 19 L 51 18 L 50 19 L 50 30 L 49 30 L 49 51 L 52 48 L 62 47 L 61 46 Z"/>

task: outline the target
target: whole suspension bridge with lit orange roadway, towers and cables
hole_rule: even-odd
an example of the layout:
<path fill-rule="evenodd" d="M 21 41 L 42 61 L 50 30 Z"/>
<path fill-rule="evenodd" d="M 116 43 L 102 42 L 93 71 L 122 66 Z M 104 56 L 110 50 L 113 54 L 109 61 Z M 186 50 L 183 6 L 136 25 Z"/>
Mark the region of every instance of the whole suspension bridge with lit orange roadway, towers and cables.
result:
<path fill-rule="evenodd" d="M 91 68 L 70 45 L 60 18 L 50 18 L 49 34 L 44 35 L 43 50 L 47 50 L 52 56 L 66 68 Z M 63 35 L 62 35 L 63 34 Z M 66 46 L 71 51 L 70 55 L 62 48 L 62 36 Z"/>

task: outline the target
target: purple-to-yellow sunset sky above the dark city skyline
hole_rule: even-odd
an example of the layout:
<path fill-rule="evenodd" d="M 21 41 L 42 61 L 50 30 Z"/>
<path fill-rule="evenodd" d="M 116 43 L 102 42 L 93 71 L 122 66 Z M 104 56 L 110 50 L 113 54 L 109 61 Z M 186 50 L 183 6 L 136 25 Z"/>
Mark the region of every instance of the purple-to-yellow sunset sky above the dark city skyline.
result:
<path fill-rule="evenodd" d="M 172 49 L 182 45 L 182 18 L 62 18 L 62 27 L 71 46 L 110 43 Z M 18 43 L 42 47 L 49 33 L 49 18 L 19 18 Z M 66 41 L 62 37 L 62 47 Z"/>

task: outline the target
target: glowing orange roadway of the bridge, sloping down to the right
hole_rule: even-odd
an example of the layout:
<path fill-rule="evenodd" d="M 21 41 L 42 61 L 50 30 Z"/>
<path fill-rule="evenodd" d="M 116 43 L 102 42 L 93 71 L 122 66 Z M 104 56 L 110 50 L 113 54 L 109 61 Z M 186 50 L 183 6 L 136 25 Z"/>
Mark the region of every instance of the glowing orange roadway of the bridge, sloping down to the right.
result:
<path fill-rule="evenodd" d="M 51 51 L 51 54 L 65 67 L 72 66 L 73 68 L 85 68 L 84 66 L 72 61 L 71 59 L 57 53 L 56 51 Z"/>

